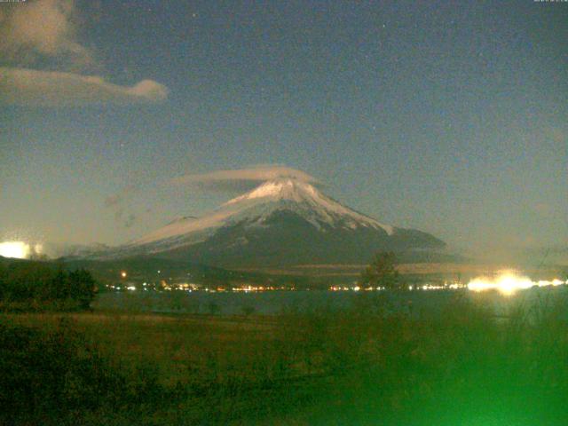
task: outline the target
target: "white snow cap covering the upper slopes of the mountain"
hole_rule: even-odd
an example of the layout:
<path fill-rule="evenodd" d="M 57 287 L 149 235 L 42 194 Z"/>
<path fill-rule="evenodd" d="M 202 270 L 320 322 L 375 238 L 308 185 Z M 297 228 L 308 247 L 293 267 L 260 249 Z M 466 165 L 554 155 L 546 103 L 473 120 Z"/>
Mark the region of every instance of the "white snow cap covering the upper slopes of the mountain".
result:
<path fill-rule="evenodd" d="M 198 242 L 221 226 L 242 221 L 247 221 L 249 225 L 263 225 L 264 219 L 277 210 L 293 211 L 318 229 L 322 225 L 328 225 L 348 229 L 382 229 L 387 235 L 395 232 L 394 227 L 380 224 L 371 217 L 343 206 L 310 184 L 292 178 L 280 178 L 265 182 L 252 191 L 225 202 L 209 215 L 175 220 L 154 233 L 133 241 L 132 245 L 141 246 L 161 241 L 159 248 L 173 248 L 178 244 Z"/>

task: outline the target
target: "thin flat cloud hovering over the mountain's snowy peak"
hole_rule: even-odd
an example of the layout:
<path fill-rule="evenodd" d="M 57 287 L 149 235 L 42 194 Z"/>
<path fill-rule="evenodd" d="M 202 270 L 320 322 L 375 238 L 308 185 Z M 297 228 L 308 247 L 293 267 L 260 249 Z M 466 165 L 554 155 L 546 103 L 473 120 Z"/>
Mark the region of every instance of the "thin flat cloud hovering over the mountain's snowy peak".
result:
<path fill-rule="evenodd" d="M 198 185 L 210 190 L 237 190 L 278 177 L 293 177 L 304 182 L 319 183 L 315 177 L 302 170 L 285 166 L 259 166 L 250 169 L 217 170 L 209 173 L 185 175 L 171 179 L 170 184 Z"/>

